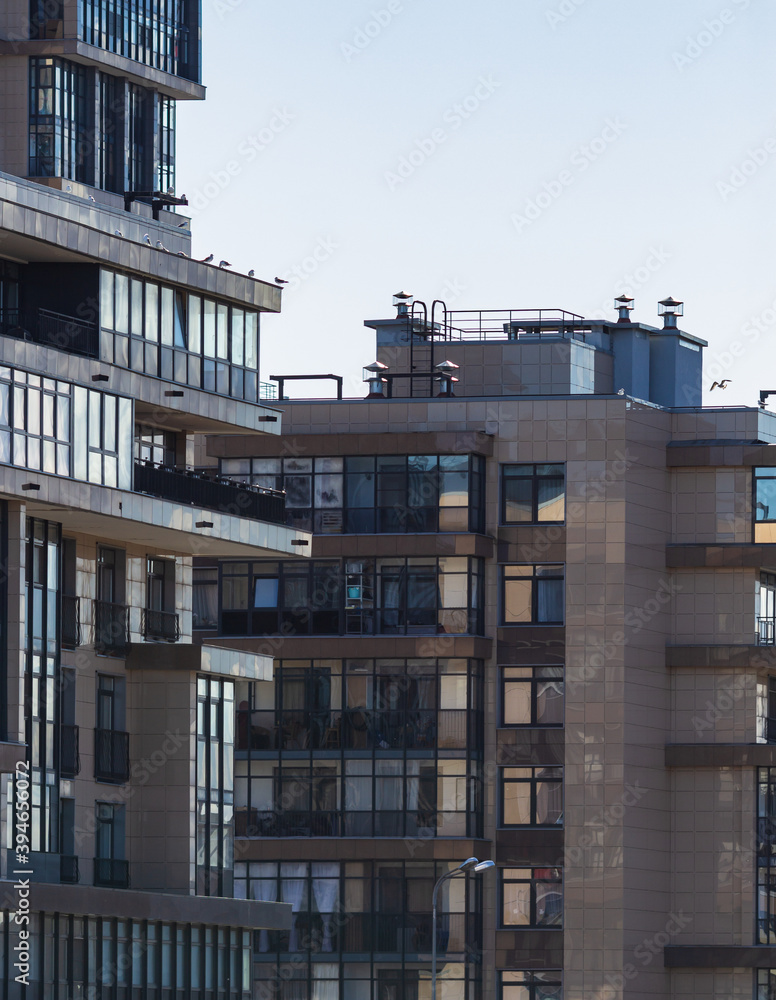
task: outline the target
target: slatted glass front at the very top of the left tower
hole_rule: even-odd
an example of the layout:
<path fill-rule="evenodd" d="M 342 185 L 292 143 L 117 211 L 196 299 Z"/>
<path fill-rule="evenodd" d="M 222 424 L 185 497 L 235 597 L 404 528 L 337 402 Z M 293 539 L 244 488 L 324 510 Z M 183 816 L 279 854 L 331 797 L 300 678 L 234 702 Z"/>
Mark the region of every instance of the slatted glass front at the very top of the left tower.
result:
<path fill-rule="evenodd" d="M 81 0 L 78 6 L 80 36 L 89 45 L 198 81 L 196 0 Z"/>

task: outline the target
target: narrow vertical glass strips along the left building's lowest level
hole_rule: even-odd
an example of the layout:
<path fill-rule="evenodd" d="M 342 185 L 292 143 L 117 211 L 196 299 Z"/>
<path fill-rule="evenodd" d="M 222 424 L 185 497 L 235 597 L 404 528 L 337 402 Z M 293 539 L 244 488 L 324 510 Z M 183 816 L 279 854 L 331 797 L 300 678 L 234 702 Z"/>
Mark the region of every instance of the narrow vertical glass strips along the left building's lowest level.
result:
<path fill-rule="evenodd" d="M 0 912 L 0 1000 L 247 1000 L 251 936 L 239 927 L 30 914 L 30 986 L 14 983 L 19 927 Z"/>

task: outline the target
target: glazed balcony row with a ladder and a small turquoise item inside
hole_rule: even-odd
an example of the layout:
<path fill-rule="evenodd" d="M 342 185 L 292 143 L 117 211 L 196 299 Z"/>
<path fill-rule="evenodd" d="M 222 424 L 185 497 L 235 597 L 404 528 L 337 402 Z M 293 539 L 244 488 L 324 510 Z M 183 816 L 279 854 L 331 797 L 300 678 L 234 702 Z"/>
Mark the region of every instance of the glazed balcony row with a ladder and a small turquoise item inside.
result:
<path fill-rule="evenodd" d="M 221 564 L 226 635 L 471 634 L 481 628 L 479 559 Z"/>

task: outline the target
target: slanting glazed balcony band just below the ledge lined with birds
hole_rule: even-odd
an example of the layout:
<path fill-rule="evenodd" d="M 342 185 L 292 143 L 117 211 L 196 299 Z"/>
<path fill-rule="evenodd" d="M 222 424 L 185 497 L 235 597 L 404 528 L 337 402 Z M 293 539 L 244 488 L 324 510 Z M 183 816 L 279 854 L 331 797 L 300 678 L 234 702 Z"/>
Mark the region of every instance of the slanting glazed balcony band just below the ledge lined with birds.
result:
<path fill-rule="evenodd" d="M 259 315 L 100 271 L 100 360 L 255 402 Z"/>

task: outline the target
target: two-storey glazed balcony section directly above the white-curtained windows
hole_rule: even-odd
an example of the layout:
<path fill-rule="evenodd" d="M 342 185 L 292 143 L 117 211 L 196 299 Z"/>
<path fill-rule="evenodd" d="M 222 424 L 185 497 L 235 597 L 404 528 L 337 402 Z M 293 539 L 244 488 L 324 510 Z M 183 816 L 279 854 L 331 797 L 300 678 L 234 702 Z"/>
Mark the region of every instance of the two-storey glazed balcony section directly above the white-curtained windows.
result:
<path fill-rule="evenodd" d="M 238 682 L 242 837 L 482 833 L 482 665 L 284 660 Z"/>

